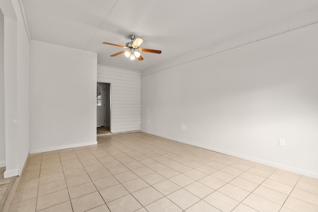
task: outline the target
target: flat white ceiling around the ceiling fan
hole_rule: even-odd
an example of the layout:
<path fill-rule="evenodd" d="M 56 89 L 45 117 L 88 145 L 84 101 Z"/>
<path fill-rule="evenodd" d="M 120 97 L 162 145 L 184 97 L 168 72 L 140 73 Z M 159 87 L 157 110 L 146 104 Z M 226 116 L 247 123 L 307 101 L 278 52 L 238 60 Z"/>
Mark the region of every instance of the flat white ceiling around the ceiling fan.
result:
<path fill-rule="evenodd" d="M 22 0 L 33 40 L 97 52 L 98 64 L 145 71 L 191 52 L 310 12 L 318 0 Z M 129 34 L 143 61 L 109 57 Z"/>

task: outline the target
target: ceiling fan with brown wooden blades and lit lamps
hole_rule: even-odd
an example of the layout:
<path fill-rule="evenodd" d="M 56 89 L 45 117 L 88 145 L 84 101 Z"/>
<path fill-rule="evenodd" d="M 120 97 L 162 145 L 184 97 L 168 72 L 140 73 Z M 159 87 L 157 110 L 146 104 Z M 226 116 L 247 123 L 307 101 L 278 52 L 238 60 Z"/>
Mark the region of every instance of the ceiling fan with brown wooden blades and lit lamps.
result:
<path fill-rule="evenodd" d="M 127 49 L 127 50 L 124 50 L 121 52 L 117 52 L 117 53 L 111 55 L 110 57 L 115 57 L 117 55 L 125 53 L 125 56 L 127 58 L 130 58 L 130 60 L 135 60 L 137 58 L 137 60 L 142 61 L 142 60 L 144 60 L 144 58 L 140 55 L 140 52 L 161 54 L 161 50 L 139 48 L 139 46 L 144 42 L 143 39 L 136 38 L 135 35 L 129 35 L 129 38 L 131 39 L 131 42 L 126 43 L 126 46 L 103 42 L 103 44 L 118 46 L 118 47 Z"/>

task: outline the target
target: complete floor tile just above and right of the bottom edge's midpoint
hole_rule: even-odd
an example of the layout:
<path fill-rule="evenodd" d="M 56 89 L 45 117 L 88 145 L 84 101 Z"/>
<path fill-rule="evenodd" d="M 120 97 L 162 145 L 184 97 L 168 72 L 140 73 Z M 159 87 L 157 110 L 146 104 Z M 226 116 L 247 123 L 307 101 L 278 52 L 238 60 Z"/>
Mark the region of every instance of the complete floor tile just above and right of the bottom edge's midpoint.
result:
<path fill-rule="evenodd" d="M 167 195 L 166 197 L 182 210 L 186 210 L 190 206 L 200 201 L 200 198 L 194 194 L 191 194 L 185 189 L 179 189 L 172 194 Z"/>

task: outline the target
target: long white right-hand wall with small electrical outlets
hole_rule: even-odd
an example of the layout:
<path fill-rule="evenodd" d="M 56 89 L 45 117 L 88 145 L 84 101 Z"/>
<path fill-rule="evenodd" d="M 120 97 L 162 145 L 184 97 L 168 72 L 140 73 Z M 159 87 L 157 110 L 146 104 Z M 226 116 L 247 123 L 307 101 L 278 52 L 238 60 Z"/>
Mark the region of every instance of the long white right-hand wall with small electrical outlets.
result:
<path fill-rule="evenodd" d="M 316 24 L 143 76 L 142 131 L 318 178 L 317 37 Z"/>

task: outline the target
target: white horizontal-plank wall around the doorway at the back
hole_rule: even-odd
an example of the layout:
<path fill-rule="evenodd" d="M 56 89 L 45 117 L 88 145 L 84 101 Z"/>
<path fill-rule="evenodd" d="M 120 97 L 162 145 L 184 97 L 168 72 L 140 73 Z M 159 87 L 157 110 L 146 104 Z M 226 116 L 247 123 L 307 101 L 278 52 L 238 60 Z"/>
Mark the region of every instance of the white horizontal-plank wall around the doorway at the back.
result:
<path fill-rule="evenodd" d="M 98 65 L 97 82 L 111 83 L 111 132 L 140 130 L 140 72 Z"/>

